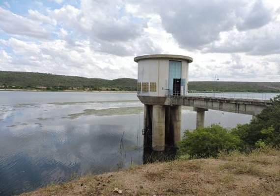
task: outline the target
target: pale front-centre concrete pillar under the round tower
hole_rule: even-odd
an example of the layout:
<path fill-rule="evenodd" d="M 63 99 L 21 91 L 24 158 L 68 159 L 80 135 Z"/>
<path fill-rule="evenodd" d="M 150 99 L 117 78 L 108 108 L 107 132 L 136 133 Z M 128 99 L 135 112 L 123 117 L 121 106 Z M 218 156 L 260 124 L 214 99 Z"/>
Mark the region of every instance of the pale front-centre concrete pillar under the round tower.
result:
<path fill-rule="evenodd" d="M 165 150 L 165 107 L 153 105 L 152 148 L 155 151 Z"/>

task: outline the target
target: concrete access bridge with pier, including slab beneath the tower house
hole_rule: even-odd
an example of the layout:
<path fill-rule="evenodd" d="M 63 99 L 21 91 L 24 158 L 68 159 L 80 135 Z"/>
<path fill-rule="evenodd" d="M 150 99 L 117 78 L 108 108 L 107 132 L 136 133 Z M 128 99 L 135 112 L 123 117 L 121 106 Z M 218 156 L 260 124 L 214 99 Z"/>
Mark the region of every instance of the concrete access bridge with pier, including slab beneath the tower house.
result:
<path fill-rule="evenodd" d="M 255 116 L 266 106 L 271 105 L 270 100 L 252 98 L 217 98 L 193 95 L 167 97 L 139 95 L 138 98 L 148 105 L 194 107 L 196 111 L 196 128 L 204 126 L 204 113 L 209 109 Z"/>

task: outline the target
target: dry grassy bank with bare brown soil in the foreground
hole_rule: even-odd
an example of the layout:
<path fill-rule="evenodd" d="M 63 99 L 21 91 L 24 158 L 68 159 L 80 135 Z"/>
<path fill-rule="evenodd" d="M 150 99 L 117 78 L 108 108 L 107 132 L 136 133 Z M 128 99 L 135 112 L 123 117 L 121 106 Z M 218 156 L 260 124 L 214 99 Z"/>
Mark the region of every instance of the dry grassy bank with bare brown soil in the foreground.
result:
<path fill-rule="evenodd" d="M 131 166 L 49 185 L 22 196 L 278 196 L 280 150 L 233 152 L 217 159 L 175 160 Z"/>

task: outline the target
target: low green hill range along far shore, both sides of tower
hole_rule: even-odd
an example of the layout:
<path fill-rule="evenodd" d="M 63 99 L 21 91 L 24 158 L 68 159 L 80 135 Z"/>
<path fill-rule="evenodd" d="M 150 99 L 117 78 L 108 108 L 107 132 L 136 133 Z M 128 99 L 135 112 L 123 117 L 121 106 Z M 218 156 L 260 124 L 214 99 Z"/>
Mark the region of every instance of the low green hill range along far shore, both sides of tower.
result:
<path fill-rule="evenodd" d="M 111 90 L 136 91 L 137 80 L 114 80 L 55 75 L 51 73 L 0 71 L 0 88 L 37 90 Z M 280 93 L 280 82 L 189 82 L 189 91 L 270 92 Z"/>

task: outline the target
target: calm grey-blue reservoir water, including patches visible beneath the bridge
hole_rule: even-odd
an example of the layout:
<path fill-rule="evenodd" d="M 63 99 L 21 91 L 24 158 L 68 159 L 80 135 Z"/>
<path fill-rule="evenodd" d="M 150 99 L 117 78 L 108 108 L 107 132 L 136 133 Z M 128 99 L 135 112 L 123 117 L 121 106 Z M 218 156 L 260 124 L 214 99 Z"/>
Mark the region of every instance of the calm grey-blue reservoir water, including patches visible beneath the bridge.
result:
<path fill-rule="evenodd" d="M 196 112 L 182 109 L 183 133 L 195 128 Z M 205 125 L 251 119 L 205 113 Z M 0 91 L 0 196 L 142 164 L 142 126 L 136 93 Z"/>

